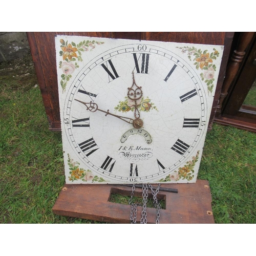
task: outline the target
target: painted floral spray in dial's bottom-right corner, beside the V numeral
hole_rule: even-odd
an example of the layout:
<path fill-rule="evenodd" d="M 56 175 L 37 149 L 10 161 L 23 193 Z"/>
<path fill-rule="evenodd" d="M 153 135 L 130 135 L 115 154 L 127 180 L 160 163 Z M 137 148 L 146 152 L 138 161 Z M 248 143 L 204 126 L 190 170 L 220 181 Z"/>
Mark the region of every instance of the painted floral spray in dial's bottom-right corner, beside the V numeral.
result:
<path fill-rule="evenodd" d="M 175 170 L 174 173 L 167 175 L 164 179 L 159 180 L 159 182 L 178 181 L 180 179 L 192 180 L 194 178 L 194 167 L 198 161 L 199 152 L 197 152 L 196 156 L 192 157 L 192 160 L 186 162 L 183 167 L 179 167 L 178 171 Z"/>

